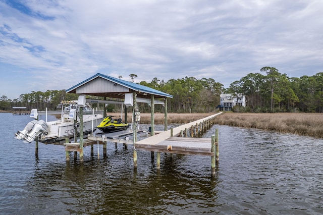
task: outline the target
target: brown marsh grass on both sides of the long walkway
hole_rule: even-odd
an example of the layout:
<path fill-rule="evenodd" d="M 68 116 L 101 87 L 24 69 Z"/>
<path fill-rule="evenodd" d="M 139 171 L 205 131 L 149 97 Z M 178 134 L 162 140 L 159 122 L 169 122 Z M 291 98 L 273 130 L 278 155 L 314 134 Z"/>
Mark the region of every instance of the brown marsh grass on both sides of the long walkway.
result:
<path fill-rule="evenodd" d="M 168 113 L 168 124 L 186 124 L 216 113 Z M 121 113 L 107 113 L 107 116 L 121 118 Z M 123 121 L 124 120 L 123 113 Z M 127 122 L 131 123 L 132 113 L 128 113 Z M 141 113 L 140 123 L 150 124 L 151 114 Z M 165 114 L 155 113 L 154 124 L 164 124 Z M 281 133 L 291 133 L 314 138 L 323 138 L 323 114 L 319 113 L 232 113 L 224 112 L 216 117 L 216 124 L 242 128 L 255 128 Z"/>

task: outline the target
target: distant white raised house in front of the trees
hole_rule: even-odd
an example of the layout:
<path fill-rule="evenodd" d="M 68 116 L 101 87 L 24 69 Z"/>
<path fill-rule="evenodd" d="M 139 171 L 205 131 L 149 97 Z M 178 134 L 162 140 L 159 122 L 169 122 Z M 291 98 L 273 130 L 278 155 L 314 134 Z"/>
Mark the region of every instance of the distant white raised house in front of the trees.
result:
<path fill-rule="evenodd" d="M 223 93 L 220 95 L 220 105 L 218 108 L 220 111 L 231 111 L 236 105 L 246 106 L 246 97 L 242 93 Z"/>

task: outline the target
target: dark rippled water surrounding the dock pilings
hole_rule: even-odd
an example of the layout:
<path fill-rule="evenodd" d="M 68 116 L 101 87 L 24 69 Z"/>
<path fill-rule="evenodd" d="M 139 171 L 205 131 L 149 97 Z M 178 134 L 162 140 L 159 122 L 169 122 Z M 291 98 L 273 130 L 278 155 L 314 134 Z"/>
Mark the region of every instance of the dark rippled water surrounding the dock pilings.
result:
<path fill-rule="evenodd" d="M 323 140 L 213 126 L 220 133 L 220 164 L 210 177 L 210 157 L 102 146 L 84 164 L 65 161 L 63 146 L 14 139 L 31 120 L 0 113 L 0 214 L 321 214 Z M 161 130 L 163 126 L 155 130 Z"/>

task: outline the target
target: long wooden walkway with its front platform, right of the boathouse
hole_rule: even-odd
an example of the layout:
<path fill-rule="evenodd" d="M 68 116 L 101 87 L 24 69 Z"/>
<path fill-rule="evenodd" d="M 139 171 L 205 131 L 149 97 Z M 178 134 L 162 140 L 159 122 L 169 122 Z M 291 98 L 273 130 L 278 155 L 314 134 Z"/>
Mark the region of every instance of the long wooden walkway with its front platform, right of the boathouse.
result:
<path fill-rule="evenodd" d="M 137 150 L 156 152 L 157 169 L 160 169 L 160 152 L 197 154 L 211 156 L 211 172 L 214 175 L 216 163 L 219 162 L 218 129 L 216 129 L 216 133 L 211 138 L 192 137 L 201 136 L 214 124 L 214 118 L 220 114 L 222 112 L 135 142 L 134 167 L 137 167 Z"/>

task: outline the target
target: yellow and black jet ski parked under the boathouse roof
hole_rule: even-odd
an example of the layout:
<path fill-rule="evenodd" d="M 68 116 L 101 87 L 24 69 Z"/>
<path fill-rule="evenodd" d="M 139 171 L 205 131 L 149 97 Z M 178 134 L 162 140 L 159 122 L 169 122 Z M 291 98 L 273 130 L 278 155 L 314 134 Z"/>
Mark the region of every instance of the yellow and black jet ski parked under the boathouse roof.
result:
<path fill-rule="evenodd" d="M 123 123 L 121 118 L 115 120 L 113 119 L 113 116 L 107 116 L 96 128 L 103 132 L 110 133 L 125 130 L 129 128 L 129 125 L 128 123 Z"/>

